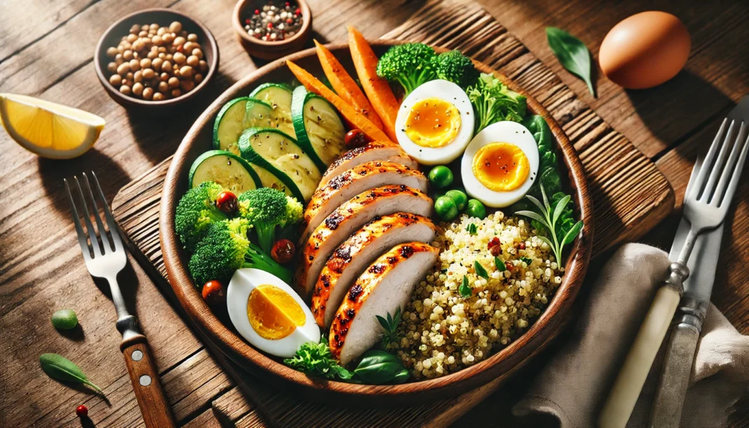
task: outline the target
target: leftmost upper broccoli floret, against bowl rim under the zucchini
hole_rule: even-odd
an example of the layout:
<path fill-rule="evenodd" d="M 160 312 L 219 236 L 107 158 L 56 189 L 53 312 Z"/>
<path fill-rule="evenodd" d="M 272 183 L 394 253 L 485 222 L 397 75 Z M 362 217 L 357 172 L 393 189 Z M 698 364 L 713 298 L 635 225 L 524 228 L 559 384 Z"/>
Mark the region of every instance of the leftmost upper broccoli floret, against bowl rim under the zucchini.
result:
<path fill-rule="evenodd" d="M 211 223 L 226 220 L 226 214 L 216 208 L 216 198 L 224 191 L 220 184 L 206 181 L 187 190 L 175 213 L 175 229 L 180 241 L 192 252 Z"/>

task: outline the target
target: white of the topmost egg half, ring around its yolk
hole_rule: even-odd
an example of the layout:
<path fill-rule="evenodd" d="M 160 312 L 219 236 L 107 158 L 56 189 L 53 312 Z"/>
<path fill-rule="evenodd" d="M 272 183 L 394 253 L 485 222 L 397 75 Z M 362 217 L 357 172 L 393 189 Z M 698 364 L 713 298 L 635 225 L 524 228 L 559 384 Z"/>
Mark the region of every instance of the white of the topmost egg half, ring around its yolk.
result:
<path fill-rule="evenodd" d="M 422 147 L 406 135 L 406 119 L 411 107 L 425 98 L 440 98 L 451 103 L 461 114 L 461 127 L 455 138 L 443 147 Z M 398 144 L 422 165 L 443 165 L 457 159 L 473 136 L 473 106 L 460 86 L 447 80 L 431 80 L 419 85 L 403 100 L 395 118 L 395 136 Z"/>

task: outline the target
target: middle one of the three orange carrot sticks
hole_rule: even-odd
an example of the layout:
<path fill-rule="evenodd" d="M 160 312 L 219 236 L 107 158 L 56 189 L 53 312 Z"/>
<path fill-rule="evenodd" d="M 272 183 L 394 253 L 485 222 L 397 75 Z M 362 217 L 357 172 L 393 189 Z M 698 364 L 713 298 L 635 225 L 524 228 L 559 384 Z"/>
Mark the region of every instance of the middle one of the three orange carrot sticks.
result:
<path fill-rule="evenodd" d="M 318 43 L 318 40 L 315 40 L 315 46 L 318 46 L 318 58 L 320 58 L 320 64 L 323 66 L 325 76 L 330 80 L 330 85 L 333 86 L 336 94 L 354 107 L 354 109 L 357 109 L 358 112 L 361 112 L 376 127 L 382 129 L 383 124 L 380 121 L 380 116 L 372 109 L 372 104 L 369 103 L 364 92 L 359 88 L 357 82 L 354 82 L 354 79 L 346 73 L 346 70 L 333 55 L 333 52 L 330 52 L 327 47 Z"/>

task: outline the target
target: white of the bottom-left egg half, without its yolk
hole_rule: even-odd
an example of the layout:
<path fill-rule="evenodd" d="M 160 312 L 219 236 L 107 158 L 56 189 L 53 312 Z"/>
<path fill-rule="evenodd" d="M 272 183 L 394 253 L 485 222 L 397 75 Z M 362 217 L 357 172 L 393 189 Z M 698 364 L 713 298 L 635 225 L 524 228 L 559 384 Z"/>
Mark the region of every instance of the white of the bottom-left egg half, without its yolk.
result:
<path fill-rule="evenodd" d="M 264 284 L 276 286 L 287 292 L 304 311 L 304 325 L 297 326 L 291 334 L 279 340 L 270 340 L 261 337 L 252 328 L 247 317 L 249 294 L 256 287 Z M 231 319 L 231 324 L 234 325 L 234 328 L 237 329 L 245 340 L 262 352 L 276 355 L 276 357 L 291 358 L 302 343 L 320 343 L 320 328 L 315 322 L 315 317 L 312 316 L 312 311 L 309 310 L 309 307 L 307 307 L 300 295 L 297 295 L 297 292 L 294 292 L 287 283 L 266 271 L 255 268 L 237 269 L 234 272 L 234 276 L 231 277 L 231 282 L 229 282 L 228 289 L 226 290 L 226 307 L 229 319 Z"/>

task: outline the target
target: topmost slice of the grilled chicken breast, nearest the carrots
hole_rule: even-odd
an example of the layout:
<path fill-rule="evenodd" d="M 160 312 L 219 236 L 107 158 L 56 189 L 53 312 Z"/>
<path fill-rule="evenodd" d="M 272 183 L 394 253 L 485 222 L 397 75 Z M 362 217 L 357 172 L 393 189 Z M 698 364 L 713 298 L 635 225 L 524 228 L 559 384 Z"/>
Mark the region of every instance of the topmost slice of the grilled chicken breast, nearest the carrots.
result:
<path fill-rule="evenodd" d="M 371 162 L 372 160 L 382 160 L 392 163 L 400 163 L 410 169 L 419 169 L 419 163 L 408 156 L 401 146 L 389 141 L 369 142 L 361 147 L 352 148 L 341 154 L 341 157 L 328 166 L 327 171 L 323 174 L 320 186 L 323 187 L 330 181 L 330 178 L 340 175 L 347 169 L 362 163 Z"/>

